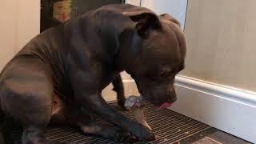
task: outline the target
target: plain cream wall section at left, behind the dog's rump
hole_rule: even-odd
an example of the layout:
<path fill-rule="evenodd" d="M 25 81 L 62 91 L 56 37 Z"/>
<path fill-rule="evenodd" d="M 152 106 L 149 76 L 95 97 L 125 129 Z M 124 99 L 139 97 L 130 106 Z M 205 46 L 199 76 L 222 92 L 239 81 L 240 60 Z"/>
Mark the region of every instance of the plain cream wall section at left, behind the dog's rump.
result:
<path fill-rule="evenodd" d="M 36 34 L 40 0 L 2 0 L 0 4 L 0 70 Z"/>

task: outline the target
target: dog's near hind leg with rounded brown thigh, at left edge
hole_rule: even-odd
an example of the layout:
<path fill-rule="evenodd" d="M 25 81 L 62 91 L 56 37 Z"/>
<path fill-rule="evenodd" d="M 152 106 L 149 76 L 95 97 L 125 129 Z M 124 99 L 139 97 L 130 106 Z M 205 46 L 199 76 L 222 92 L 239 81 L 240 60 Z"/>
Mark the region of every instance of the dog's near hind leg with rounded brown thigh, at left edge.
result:
<path fill-rule="evenodd" d="M 4 111 L 23 128 L 23 144 L 50 144 L 44 131 L 52 113 L 53 84 L 50 72 L 38 58 L 11 62 L 0 82 Z"/>

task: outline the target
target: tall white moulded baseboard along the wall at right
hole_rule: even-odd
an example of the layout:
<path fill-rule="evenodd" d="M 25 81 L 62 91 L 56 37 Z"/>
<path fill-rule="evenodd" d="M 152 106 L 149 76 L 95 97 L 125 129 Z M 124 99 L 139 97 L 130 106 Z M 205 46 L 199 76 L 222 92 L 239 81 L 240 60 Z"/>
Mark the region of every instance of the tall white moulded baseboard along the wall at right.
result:
<path fill-rule="evenodd" d="M 256 93 L 182 76 L 175 87 L 170 110 L 256 143 Z"/>

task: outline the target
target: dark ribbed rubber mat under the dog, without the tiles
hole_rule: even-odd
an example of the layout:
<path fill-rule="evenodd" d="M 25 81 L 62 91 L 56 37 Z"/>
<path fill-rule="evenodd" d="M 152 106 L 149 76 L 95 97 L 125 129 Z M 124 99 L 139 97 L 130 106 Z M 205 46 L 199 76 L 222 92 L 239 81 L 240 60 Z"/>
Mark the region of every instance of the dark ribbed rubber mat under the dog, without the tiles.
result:
<path fill-rule="evenodd" d="M 112 106 L 118 107 L 117 103 L 111 103 Z M 129 111 L 121 111 L 122 114 L 126 114 L 128 117 L 132 118 Z M 189 138 L 190 136 L 201 132 L 202 130 L 209 129 L 210 126 L 203 124 L 202 122 L 195 121 L 194 119 L 188 118 L 182 114 L 178 114 L 172 110 L 155 110 L 150 104 L 146 105 L 145 110 L 146 121 L 152 127 L 157 139 L 154 142 L 146 143 L 174 143 L 182 141 L 184 138 Z M 106 122 L 100 122 L 105 126 L 111 126 Z M 9 143 L 19 143 L 20 130 L 13 132 L 11 135 L 13 142 Z M 58 127 L 50 126 L 46 130 L 46 137 L 52 140 L 61 142 L 70 142 L 75 144 L 82 143 L 103 143 L 103 144 L 113 144 L 120 143 L 110 141 L 109 139 L 97 137 L 94 135 L 82 134 L 81 131 L 76 130 L 71 127 Z M 136 142 L 145 143 L 145 142 Z"/>

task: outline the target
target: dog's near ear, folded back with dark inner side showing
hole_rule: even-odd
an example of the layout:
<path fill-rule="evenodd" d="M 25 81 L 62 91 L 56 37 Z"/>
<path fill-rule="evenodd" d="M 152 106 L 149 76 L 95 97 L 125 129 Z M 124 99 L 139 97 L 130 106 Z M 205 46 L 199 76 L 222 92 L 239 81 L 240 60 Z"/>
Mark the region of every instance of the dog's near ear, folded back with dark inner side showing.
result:
<path fill-rule="evenodd" d="M 130 11 L 123 12 L 122 14 L 128 16 L 132 21 L 136 23 L 136 30 L 138 35 L 142 38 L 146 38 L 150 30 L 157 30 L 161 27 L 158 15 L 150 11 Z"/>

